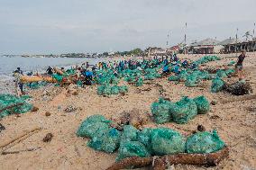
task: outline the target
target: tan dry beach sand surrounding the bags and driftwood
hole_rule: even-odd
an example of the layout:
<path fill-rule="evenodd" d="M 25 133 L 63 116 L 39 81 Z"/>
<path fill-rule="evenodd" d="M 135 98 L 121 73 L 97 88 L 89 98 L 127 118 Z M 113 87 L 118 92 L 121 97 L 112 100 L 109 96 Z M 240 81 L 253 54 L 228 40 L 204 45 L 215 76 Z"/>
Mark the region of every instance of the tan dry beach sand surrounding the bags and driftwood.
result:
<path fill-rule="evenodd" d="M 226 58 L 217 62 L 210 62 L 207 66 L 219 67 L 236 60 Z M 198 58 L 187 57 L 182 58 Z M 254 94 L 256 92 L 256 55 L 245 59 L 246 80 L 251 83 Z M 229 81 L 235 81 L 232 77 Z M 157 85 L 159 84 L 159 85 Z M 162 94 L 172 101 L 178 101 L 182 95 L 196 97 L 206 95 L 209 101 L 216 101 L 211 106 L 211 112 L 206 115 L 198 115 L 187 124 L 166 123 L 164 127 L 178 130 L 184 135 L 189 135 L 191 130 L 196 130 L 198 124 L 203 124 L 206 130 L 218 130 L 224 142 L 230 148 L 230 157 L 216 167 L 209 169 L 255 169 L 256 168 L 256 100 L 240 101 L 222 104 L 224 99 L 240 98 L 231 94 L 210 93 L 210 81 L 206 81 L 201 87 L 186 87 L 184 84 L 175 85 L 167 78 L 152 81 L 151 85 L 135 87 L 129 85 L 129 93 L 126 95 L 114 95 L 103 97 L 96 94 L 96 86 L 80 89 L 78 95 L 66 95 L 67 91 L 60 87 L 43 87 L 31 91 L 32 103 L 39 107 L 38 112 L 28 112 L 20 117 L 15 115 L 5 117 L 0 122 L 6 130 L 0 133 L 0 144 L 13 139 L 24 130 L 33 127 L 41 127 L 41 131 L 23 140 L 8 151 L 23 150 L 26 148 L 38 148 L 30 152 L 9 154 L 0 156 L 0 169 L 87 169 L 100 170 L 114 163 L 116 153 L 106 154 L 87 147 L 87 140 L 78 138 L 76 130 L 81 121 L 87 116 L 96 113 L 110 118 L 120 112 L 130 111 L 133 108 L 142 112 L 151 112 L 151 103 L 160 97 L 160 85 L 163 87 Z M 138 89 L 151 88 L 150 91 L 140 92 Z M 64 112 L 72 105 L 77 107 L 76 112 Z M 45 116 L 50 112 L 50 116 Z M 217 115 L 219 118 L 213 119 Z M 157 127 L 152 121 L 145 127 Z M 42 139 L 47 133 L 52 133 L 53 138 L 49 143 Z M 197 166 L 173 166 L 175 169 L 206 169 Z"/>

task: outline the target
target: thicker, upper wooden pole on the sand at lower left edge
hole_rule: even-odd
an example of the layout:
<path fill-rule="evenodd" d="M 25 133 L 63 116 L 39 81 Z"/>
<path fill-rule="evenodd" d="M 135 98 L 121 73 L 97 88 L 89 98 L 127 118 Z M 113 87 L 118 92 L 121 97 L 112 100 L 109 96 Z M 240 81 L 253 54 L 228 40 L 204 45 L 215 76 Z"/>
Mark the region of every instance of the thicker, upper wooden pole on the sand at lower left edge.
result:
<path fill-rule="evenodd" d="M 30 136 L 32 136 L 32 134 L 37 133 L 38 131 L 40 131 L 41 128 L 34 128 L 32 130 L 26 131 L 23 134 L 19 135 L 18 137 L 11 139 L 10 141 L 7 141 L 3 144 L 0 145 L 1 149 L 1 153 L 4 152 L 6 149 L 13 147 L 14 145 L 16 145 L 17 143 L 21 142 L 24 139 L 29 138 Z"/>

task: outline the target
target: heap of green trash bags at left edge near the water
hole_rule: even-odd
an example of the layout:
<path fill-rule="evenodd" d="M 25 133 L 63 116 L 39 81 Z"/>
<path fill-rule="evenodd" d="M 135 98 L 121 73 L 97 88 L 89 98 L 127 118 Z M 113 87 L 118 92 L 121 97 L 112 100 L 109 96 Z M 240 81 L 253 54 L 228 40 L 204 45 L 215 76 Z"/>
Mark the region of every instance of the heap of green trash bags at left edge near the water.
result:
<path fill-rule="evenodd" d="M 0 112 L 0 118 L 3 118 L 13 113 L 30 112 L 33 108 L 33 105 L 26 102 L 28 98 L 30 98 L 30 96 L 28 95 L 17 97 L 12 94 L 0 94 L 0 110 L 17 103 L 23 103 L 22 105 L 15 106 L 13 108 L 6 109 L 5 111 Z"/>

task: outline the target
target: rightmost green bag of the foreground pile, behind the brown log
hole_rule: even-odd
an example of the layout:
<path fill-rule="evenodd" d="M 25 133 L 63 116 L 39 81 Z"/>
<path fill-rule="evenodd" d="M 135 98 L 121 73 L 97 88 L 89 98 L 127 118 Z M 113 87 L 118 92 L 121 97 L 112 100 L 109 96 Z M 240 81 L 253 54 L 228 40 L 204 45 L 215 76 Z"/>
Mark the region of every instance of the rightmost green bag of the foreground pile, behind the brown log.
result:
<path fill-rule="evenodd" d="M 224 146 L 224 141 L 219 138 L 216 130 L 213 133 L 199 131 L 187 138 L 186 152 L 192 154 L 213 153 L 221 150 Z"/>

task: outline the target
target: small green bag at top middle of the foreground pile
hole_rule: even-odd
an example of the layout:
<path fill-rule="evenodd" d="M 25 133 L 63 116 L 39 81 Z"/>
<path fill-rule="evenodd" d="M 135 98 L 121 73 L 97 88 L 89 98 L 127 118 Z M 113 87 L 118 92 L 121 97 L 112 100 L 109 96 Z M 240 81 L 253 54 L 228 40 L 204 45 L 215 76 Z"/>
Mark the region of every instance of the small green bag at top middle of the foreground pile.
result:
<path fill-rule="evenodd" d="M 123 126 L 123 133 L 121 135 L 121 140 L 131 140 L 134 141 L 137 139 L 137 133 L 139 130 L 137 130 L 132 125 L 124 125 Z"/>

